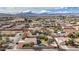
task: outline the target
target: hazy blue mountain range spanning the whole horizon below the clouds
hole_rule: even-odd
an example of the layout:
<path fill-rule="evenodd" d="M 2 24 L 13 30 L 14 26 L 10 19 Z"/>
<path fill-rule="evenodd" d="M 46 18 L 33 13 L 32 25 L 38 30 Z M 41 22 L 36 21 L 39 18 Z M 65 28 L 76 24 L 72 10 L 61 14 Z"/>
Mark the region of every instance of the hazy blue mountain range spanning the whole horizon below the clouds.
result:
<path fill-rule="evenodd" d="M 29 12 L 21 12 L 18 14 L 5 14 L 5 13 L 0 13 L 0 17 L 8 17 L 8 16 L 60 16 L 60 15 L 75 15 L 75 16 L 79 16 L 79 13 L 33 13 L 31 11 Z"/>

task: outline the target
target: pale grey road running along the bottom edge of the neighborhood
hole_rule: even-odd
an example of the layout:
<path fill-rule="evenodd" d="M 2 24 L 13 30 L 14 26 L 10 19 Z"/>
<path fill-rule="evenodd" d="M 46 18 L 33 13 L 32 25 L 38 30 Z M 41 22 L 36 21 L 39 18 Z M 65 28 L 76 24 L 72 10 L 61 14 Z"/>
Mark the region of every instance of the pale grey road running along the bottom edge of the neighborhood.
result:
<path fill-rule="evenodd" d="M 7 49 L 6 51 L 79 51 L 79 48 L 69 49 Z"/>

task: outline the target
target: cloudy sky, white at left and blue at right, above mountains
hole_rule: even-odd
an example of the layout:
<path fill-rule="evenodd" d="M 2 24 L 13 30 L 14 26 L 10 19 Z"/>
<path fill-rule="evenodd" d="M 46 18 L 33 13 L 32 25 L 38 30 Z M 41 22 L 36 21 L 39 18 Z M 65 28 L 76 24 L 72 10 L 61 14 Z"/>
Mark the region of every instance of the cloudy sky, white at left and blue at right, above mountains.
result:
<path fill-rule="evenodd" d="M 79 7 L 0 7 L 0 13 L 79 13 Z"/>

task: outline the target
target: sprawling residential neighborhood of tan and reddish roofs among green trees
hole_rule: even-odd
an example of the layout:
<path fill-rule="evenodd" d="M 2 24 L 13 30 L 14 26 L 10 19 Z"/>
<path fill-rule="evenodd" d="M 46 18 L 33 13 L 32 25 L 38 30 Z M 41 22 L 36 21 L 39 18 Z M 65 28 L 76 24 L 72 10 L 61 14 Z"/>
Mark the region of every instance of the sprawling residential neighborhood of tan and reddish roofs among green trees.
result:
<path fill-rule="evenodd" d="M 0 17 L 0 50 L 79 50 L 79 17 Z"/>

